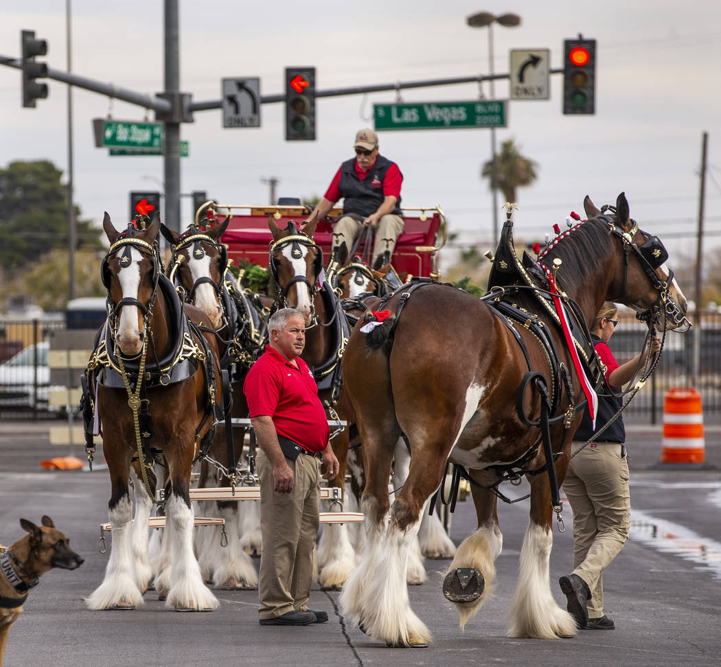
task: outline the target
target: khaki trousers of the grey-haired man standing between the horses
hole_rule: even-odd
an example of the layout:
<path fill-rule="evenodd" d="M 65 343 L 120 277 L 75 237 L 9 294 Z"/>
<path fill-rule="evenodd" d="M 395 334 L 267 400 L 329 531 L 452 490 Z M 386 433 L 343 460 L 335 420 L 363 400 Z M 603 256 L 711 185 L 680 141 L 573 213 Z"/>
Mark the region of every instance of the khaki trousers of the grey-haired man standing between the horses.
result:
<path fill-rule="evenodd" d="M 257 453 L 263 545 L 258 583 L 261 619 L 302 611 L 311 594 L 319 528 L 318 460 L 301 454 L 295 461 L 286 461 L 293 470 L 293 491 L 276 493 L 273 464 L 265 452 Z"/>

